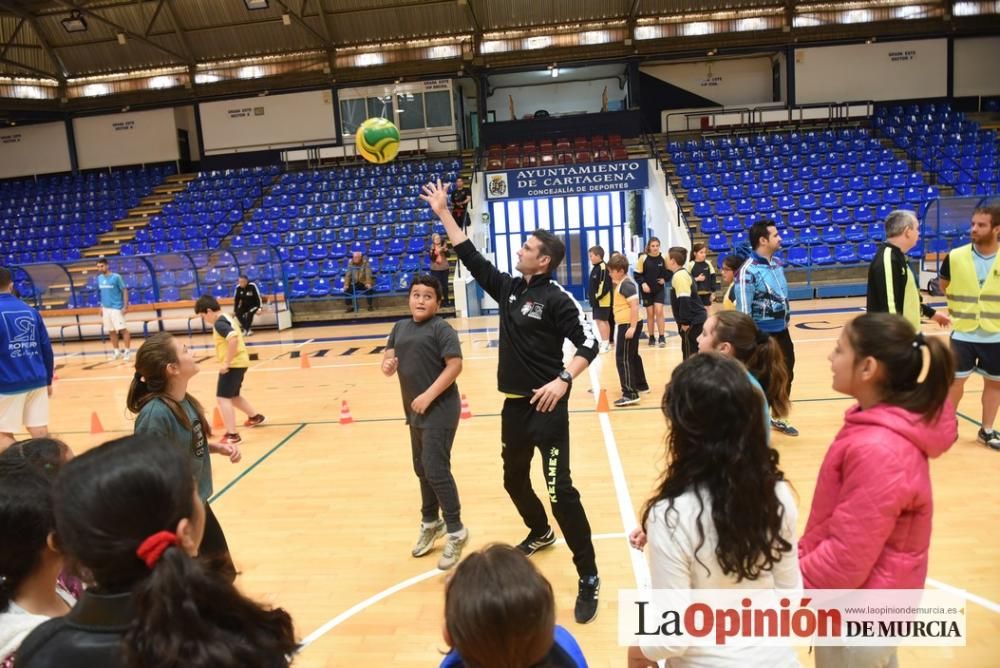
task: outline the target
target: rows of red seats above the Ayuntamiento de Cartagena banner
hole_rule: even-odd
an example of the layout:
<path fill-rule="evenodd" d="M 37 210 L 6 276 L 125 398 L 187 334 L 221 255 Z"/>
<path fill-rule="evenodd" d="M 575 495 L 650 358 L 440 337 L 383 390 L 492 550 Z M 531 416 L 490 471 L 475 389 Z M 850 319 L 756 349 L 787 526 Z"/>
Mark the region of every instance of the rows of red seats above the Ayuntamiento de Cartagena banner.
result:
<path fill-rule="evenodd" d="M 519 169 L 552 165 L 587 164 L 629 157 L 621 135 L 542 139 L 493 145 L 486 150 L 486 169 Z"/>

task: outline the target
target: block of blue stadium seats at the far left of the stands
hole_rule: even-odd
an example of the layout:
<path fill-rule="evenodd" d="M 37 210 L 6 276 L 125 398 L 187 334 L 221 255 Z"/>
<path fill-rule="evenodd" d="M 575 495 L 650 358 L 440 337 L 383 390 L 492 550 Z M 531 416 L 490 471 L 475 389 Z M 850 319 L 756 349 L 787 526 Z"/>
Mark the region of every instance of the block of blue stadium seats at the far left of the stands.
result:
<path fill-rule="evenodd" d="M 78 260 L 174 171 L 164 165 L 0 182 L 0 261 Z"/>

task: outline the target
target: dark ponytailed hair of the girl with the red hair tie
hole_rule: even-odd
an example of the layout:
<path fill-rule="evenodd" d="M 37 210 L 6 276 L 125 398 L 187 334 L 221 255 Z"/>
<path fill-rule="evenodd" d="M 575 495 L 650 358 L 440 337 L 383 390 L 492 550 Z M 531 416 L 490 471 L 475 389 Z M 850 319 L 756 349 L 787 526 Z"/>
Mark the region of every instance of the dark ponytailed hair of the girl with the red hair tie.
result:
<path fill-rule="evenodd" d="M 296 649 L 287 612 L 244 597 L 179 546 L 152 569 L 136 555 L 146 538 L 192 517 L 196 502 L 182 452 L 126 436 L 63 468 L 56 536 L 98 589 L 133 593 L 135 618 L 122 641 L 129 668 L 286 665 Z"/>

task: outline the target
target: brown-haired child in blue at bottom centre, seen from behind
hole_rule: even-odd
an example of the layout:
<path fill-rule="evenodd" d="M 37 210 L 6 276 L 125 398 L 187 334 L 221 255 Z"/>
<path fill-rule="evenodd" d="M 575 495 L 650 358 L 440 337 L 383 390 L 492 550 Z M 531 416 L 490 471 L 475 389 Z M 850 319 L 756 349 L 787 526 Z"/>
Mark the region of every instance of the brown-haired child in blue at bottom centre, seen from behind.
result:
<path fill-rule="evenodd" d="M 556 625 L 552 585 L 509 545 L 468 555 L 444 590 L 441 668 L 586 668 L 583 650 Z"/>

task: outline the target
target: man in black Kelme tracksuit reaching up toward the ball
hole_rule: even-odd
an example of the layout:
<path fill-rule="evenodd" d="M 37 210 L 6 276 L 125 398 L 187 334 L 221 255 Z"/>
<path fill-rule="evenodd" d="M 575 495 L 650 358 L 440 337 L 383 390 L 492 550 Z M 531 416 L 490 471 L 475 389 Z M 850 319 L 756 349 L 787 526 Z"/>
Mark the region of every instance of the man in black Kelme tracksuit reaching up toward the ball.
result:
<path fill-rule="evenodd" d="M 580 305 L 552 280 L 565 255 L 565 246 L 555 235 L 532 232 L 517 254 L 521 276 L 511 277 L 480 255 L 465 236 L 448 210 L 447 192 L 439 181 L 424 186 L 421 198 L 441 219 L 459 260 L 499 304 L 497 387 L 507 397 L 500 426 L 504 488 L 530 530 L 517 547 L 530 555 L 556 540 L 545 507 L 531 488 L 531 459 L 538 448 L 552 514 L 580 576 L 576 621 L 585 624 L 597 616 L 600 578 L 590 523 L 570 477 L 567 404 L 573 378 L 597 356 L 598 342 Z M 576 346 L 576 355 L 564 368 L 566 339 Z"/>

